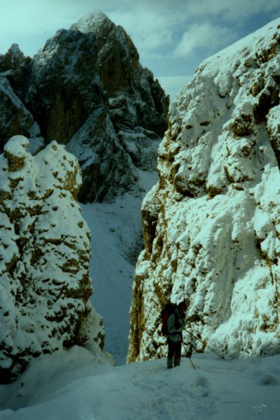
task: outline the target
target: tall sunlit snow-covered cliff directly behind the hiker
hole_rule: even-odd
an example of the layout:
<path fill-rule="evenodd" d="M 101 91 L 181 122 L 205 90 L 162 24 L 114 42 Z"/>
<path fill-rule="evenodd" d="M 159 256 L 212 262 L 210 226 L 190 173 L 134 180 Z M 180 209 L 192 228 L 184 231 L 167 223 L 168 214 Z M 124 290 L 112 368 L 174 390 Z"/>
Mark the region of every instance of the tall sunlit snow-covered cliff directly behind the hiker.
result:
<path fill-rule="evenodd" d="M 166 354 L 160 310 L 184 298 L 198 351 L 280 352 L 279 60 L 275 20 L 204 61 L 171 106 L 142 206 L 129 361 Z"/>

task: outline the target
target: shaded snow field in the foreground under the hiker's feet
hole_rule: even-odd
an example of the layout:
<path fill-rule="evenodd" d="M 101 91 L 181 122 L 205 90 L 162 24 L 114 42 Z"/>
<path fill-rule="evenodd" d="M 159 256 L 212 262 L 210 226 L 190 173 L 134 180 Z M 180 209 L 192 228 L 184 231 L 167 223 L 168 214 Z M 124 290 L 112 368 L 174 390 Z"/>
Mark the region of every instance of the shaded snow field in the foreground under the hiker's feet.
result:
<path fill-rule="evenodd" d="M 280 356 L 217 360 L 211 353 L 113 367 L 78 346 L 42 356 L 0 386 L 2 420 L 276 420 Z"/>

